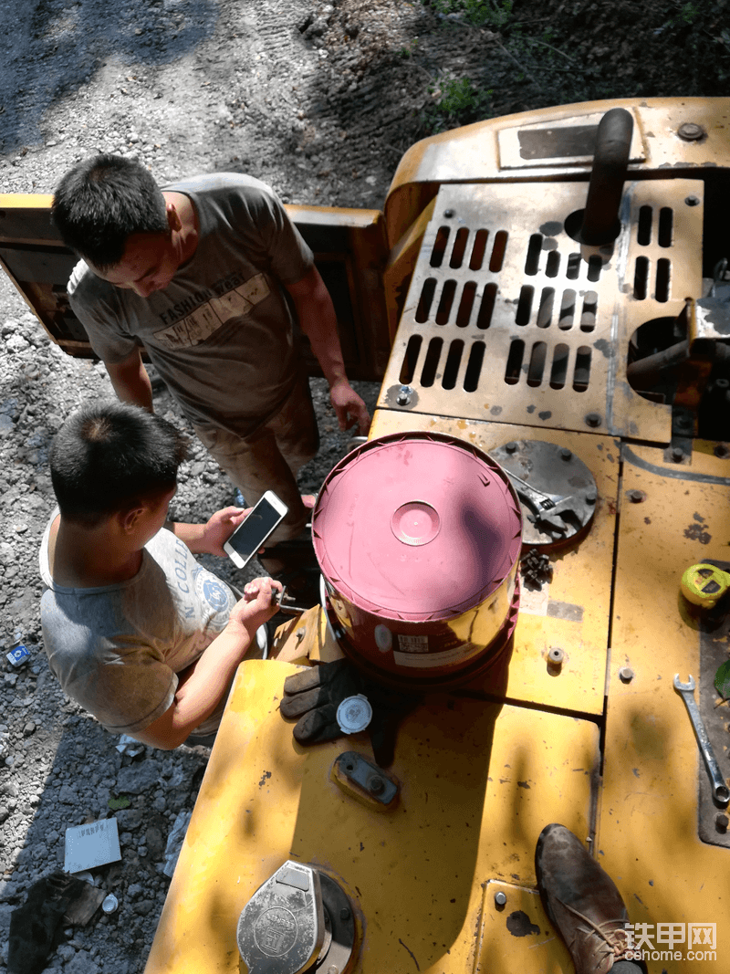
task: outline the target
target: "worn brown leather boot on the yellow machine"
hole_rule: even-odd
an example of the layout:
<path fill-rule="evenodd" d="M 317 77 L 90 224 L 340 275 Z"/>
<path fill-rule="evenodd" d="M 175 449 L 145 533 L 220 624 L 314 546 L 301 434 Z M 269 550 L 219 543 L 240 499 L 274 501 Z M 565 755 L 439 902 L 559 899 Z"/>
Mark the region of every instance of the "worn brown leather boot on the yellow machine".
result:
<path fill-rule="evenodd" d="M 542 905 L 566 942 L 575 974 L 607 974 L 628 952 L 629 915 L 613 880 L 565 825 L 545 826 L 534 864 Z"/>

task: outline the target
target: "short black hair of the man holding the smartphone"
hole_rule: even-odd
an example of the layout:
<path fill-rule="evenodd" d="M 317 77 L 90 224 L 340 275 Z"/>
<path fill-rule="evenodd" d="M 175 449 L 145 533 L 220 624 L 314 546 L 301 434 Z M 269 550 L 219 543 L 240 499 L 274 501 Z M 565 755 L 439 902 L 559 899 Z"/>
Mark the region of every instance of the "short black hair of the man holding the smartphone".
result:
<path fill-rule="evenodd" d="M 61 515 L 95 527 L 165 494 L 186 454 L 185 437 L 162 417 L 126 402 L 90 402 L 66 420 L 51 446 Z"/>

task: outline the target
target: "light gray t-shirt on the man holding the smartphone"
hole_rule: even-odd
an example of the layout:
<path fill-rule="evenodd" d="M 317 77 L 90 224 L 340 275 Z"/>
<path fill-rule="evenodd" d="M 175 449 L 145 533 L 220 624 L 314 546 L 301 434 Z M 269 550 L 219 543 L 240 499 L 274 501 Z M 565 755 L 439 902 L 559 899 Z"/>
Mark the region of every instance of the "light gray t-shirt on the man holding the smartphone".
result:
<path fill-rule="evenodd" d="M 40 551 L 48 586 L 41 623 L 51 670 L 63 692 L 108 731 L 143 731 L 170 707 L 176 674 L 226 626 L 234 594 L 164 528 L 145 545 L 133 579 L 99 588 L 57 585 L 48 557 L 56 514 Z M 214 730 L 220 713 L 213 717 L 196 732 Z"/>

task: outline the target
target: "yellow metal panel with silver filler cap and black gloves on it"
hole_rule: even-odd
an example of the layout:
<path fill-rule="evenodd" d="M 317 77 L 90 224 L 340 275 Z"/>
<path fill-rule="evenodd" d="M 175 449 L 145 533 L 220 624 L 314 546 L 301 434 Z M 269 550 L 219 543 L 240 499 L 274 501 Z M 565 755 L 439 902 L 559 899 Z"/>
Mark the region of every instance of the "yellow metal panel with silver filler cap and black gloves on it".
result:
<path fill-rule="evenodd" d="M 484 927 L 481 956 L 504 939 L 484 922 L 483 883 L 532 885 L 534 845 L 550 821 L 588 834 L 598 728 L 429 697 L 399 731 L 390 770 L 402 782 L 400 803 L 374 812 L 330 779 L 343 750 L 369 756 L 367 740 L 294 743 L 276 709 L 293 671 L 275 660 L 238 670 L 147 974 L 237 971 L 240 911 L 290 857 L 321 867 L 350 895 L 362 931 L 353 971 L 513 971 L 508 958 L 475 967 L 477 931 Z"/>

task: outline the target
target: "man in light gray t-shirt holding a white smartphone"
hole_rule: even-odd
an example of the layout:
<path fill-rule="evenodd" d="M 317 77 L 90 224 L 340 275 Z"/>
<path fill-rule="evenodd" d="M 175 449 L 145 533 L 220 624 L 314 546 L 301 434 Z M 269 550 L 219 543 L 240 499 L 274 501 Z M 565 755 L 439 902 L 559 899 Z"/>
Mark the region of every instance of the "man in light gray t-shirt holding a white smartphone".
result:
<path fill-rule="evenodd" d="M 217 729 L 238 663 L 280 582 L 236 601 L 194 554 L 224 556 L 247 511 L 166 522 L 185 441 L 163 419 L 91 403 L 55 436 L 57 509 L 41 543 L 46 653 L 64 693 L 108 730 L 177 747 Z"/>

